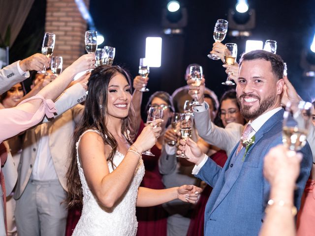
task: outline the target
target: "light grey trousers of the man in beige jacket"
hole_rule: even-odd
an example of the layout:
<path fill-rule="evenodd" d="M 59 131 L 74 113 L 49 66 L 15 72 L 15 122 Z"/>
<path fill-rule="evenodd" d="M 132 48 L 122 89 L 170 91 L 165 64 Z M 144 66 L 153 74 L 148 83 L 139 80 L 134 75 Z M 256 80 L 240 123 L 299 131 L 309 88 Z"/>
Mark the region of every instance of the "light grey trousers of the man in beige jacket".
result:
<path fill-rule="evenodd" d="M 28 182 L 16 200 L 15 219 L 19 236 L 63 236 L 67 210 L 61 202 L 65 191 L 58 180 Z"/>

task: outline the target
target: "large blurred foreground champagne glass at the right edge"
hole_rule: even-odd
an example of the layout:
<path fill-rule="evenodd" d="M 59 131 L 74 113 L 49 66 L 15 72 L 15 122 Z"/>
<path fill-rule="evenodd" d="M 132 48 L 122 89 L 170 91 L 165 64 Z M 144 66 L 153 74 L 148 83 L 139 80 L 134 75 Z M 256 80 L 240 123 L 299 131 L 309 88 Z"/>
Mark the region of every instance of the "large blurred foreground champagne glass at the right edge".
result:
<path fill-rule="evenodd" d="M 306 137 L 310 129 L 312 103 L 300 101 L 288 103 L 284 111 L 282 141 L 289 150 L 298 151 L 306 144 Z M 293 110 L 301 116 L 295 117 Z"/>

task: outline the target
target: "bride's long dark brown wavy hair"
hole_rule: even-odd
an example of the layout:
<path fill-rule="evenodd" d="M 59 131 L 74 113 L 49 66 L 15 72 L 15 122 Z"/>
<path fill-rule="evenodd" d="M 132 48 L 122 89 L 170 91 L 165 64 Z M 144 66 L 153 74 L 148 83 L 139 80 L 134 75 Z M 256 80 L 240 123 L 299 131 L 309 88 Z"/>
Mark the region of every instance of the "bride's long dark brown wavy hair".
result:
<path fill-rule="evenodd" d="M 113 168 L 115 168 L 113 164 L 113 157 L 117 150 L 117 142 L 108 131 L 105 125 L 105 120 L 107 115 L 108 84 L 110 80 L 119 73 L 125 76 L 130 86 L 131 93 L 132 87 L 129 74 L 121 67 L 103 65 L 96 67 L 91 73 L 88 83 L 89 93 L 85 102 L 84 114 L 74 131 L 71 158 L 68 172 L 66 174 L 68 191 L 65 202 L 69 208 L 74 207 L 75 205 L 82 206 L 83 193 L 76 160 L 77 150 L 75 144 L 78 142 L 80 136 L 85 130 L 94 129 L 101 133 L 104 144 L 107 144 L 112 148 L 107 157 L 107 161 L 109 161 Z M 131 127 L 131 121 L 134 125 L 135 115 L 132 103 L 130 104 L 128 116 L 122 119 L 122 133 L 126 136 L 126 140 L 129 144 L 132 143 L 132 134 L 134 133 L 134 129 L 132 127 L 135 127 Z"/>

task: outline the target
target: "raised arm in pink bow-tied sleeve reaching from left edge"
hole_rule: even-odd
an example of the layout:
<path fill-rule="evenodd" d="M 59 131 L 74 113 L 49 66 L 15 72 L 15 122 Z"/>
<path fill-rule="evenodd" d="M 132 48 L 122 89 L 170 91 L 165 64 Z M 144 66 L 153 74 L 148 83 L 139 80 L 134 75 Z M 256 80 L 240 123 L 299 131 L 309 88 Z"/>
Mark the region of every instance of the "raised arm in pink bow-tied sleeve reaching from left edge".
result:
<path fill-rule="evenodd" d="M 83 55 L 67 67 L 63 73 L 37 95 L 22 101 L 16 107 L 0 110 L 0 143 L 31 128 L 42 120 L 54 116 L 55 100 L 80 71 L 94 68 L 94 54 Z"/>

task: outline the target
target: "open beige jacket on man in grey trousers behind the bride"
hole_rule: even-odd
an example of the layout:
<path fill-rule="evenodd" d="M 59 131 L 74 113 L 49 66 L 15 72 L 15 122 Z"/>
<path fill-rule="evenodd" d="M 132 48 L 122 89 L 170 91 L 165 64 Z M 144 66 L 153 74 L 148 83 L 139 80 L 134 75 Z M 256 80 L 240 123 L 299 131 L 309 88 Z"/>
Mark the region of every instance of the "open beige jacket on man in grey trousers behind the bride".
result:
<path fill-rule="evenodd" d="M 73 89 L 69 92 L 70 89 L 67 89 L 65 98 L 61 102 L 61 97 L 56 102 L 56 107 L 59 111 L 62 111 L 65 108 L 65 103 L 75 104 L 77 102 L 83 101 L 85 99 L 85 91 L 81 85 L 78 85 L 77 88 L 81 87 L 81 91 L 78 92 L 78 89 Z M 81 99 L 82 98 L 82 99 Z M 61 105 L 61 107 L 58 106 Z M 63 189 L 66 190 L 66 179 L 65 174 L 68 169 L 68 157 L 70 155 L 70 149 L 72 145 L 72 136 L 76 123 L 81 118 L 83 113 L 84 106 L 78 104 L 70 110 L 64 112 L 62 115 L 57 116 L 52 121 L 41 124 L 47 125 L 48 128 L 48 138 L 49 138 L 49 148 L 52 155 L 52 160 L 54 167 L 58 176 L 58 179 L 63 186 Z M 20 163 L 18 166 L 18 180 L 17 186 L 14 192 L 14 198 L 19 199 L 25 190 L 25 187 L 32 175 L 32 168 L 34 166 L 35 157 L 38 149 L 38 142 L 40 139 L 39 136 L 40 125 L 28 130 L 25 135 L 23 150 L 20 158 Z"/>

